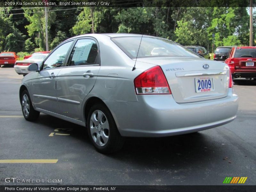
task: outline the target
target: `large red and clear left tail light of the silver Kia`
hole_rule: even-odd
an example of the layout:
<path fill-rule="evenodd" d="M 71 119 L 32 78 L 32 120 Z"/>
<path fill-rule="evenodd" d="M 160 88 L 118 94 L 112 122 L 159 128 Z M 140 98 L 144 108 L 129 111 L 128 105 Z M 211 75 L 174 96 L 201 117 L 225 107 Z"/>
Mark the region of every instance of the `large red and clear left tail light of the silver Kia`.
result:
<path fill-rule="evenodd" d="M 172 94 L 160 66 L 152 67 L 134 79 L 136 94 Z"/>

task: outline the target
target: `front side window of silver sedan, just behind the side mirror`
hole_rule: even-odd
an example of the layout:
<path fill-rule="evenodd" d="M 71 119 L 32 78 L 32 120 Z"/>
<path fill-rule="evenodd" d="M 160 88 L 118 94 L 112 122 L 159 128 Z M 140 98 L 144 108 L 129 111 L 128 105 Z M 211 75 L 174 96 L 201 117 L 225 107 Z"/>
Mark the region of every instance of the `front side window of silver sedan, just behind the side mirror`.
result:
<path fill-rule="evenodd" d="M 68 49 L 73 41 L 69 41 L 60 45 L 52 54 L 44 61 L 43 69 L 57 68 L 62 65 L 67 55 Z"/>

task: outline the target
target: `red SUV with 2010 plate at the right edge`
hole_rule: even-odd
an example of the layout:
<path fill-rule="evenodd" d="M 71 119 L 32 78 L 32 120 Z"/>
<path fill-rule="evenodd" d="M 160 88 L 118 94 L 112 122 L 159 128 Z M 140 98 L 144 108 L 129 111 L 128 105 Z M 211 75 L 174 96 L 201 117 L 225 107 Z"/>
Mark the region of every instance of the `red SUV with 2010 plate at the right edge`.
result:
<path fill-rule="evenodd" d="M 233 78 L 253 78 L 256 80 L 256 47 L 232 47 L 228 64 Z"/>

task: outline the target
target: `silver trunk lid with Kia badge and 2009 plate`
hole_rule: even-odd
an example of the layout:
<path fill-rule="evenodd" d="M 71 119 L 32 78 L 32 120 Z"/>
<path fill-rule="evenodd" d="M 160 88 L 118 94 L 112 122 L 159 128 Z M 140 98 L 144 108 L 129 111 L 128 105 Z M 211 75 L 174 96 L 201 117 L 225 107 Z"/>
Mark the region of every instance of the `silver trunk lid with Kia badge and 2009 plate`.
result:
<path fill-rule="evenodd" d="M 229 72 L 225 63 L 184 57 L 140 58 L 137 61 L 159 65 L 163 69 L 177 103 L 218 99 L 228 95 Z"/>

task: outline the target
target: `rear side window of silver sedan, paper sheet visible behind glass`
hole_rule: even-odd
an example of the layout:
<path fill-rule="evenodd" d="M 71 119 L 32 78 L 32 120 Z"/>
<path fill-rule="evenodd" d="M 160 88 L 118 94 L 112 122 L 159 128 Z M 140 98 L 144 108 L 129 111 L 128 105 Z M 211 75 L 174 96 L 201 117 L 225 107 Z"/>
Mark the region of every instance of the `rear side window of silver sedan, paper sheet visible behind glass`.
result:
<path fill-rule="evenodd" d="M 68 66 L 94 65 L 99 63 L 99 50 L 92 39 L 77 40 L 68 60 Z"/>

